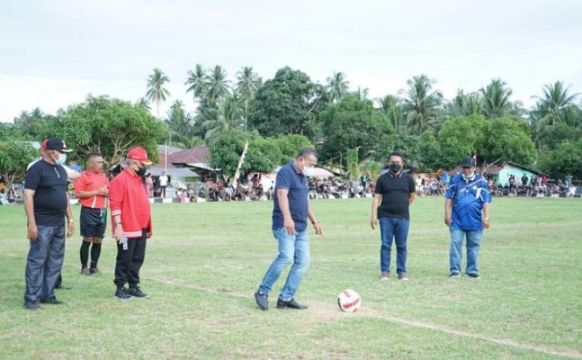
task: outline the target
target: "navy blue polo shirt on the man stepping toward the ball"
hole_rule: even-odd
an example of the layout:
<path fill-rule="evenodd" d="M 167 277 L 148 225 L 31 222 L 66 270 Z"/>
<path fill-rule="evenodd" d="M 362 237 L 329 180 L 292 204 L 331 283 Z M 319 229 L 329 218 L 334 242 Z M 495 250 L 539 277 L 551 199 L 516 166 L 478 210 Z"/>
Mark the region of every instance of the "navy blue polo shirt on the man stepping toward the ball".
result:
<path fill-rule="evenodd" d="M 273 196 L 273 229 L 283 227 L 283 215 L 279 208 L 277 189 L 287 189 L 289 210 L 291 219 L 295 222 L 295 230 L 307 229 L 307 214 L 309 210 L 309 182 L 307 176 L 301 174 L 291 161 L 282 166 L 275 180 L 275 193 Z"/>

